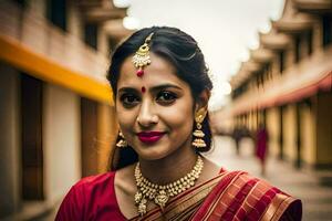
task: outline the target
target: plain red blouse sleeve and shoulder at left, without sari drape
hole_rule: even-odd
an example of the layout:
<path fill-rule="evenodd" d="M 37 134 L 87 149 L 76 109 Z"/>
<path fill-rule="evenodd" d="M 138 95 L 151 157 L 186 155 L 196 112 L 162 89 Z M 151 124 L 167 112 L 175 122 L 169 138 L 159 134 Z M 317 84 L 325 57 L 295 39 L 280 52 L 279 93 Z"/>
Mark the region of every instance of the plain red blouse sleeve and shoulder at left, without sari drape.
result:
<path fill-rule="evenodd" d="M 80 180 L 65 196 L 55 220 L 127 220 L 116 201 L 114 177 L 115 172 L 106 172 Z"/>

